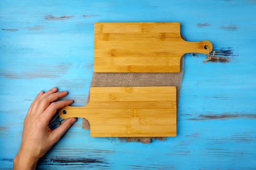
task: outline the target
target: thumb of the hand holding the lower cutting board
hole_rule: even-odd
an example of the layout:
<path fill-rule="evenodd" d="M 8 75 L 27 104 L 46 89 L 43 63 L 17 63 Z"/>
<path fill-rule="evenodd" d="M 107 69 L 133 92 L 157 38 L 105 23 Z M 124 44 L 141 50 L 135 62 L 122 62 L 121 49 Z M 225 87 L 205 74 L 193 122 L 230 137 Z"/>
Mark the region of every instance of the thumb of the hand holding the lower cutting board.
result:
<path fill-rule="evenodd" d="M 52 131 L 51 136 L 56 143 L 60 137 L 77 121 L 77 118 L 66 119 L 58 128 Z"/>

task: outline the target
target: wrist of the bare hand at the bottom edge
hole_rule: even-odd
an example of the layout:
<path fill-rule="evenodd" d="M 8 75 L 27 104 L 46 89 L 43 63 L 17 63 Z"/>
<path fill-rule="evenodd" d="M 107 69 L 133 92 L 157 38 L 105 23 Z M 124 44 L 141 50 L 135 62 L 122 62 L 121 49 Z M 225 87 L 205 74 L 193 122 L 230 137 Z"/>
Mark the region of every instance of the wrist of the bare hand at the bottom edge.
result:
<path fill-rule="evenodd" d="M 38 159 L 17 153 L 13 160 L 13 170 L 35 170 Z"/>

